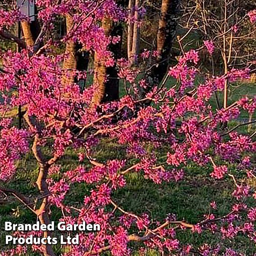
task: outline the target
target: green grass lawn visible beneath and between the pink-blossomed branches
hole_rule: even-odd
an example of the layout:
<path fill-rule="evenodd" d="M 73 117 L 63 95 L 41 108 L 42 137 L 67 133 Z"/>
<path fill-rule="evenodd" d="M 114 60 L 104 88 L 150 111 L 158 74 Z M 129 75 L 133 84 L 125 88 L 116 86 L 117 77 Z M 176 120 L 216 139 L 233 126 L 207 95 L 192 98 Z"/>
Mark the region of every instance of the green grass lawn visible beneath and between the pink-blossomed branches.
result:
<path fill-rule="evenodd" d="M 121 85 L 120 94 L 123 95 Z M 230 87 L 229 102 L 235 101 L 241 96 L 256 95 L 256 85 L 247 84 Z M 219 95 L 221 101 L 221 95 Z M 213 108 L 216 108 L 215 99 L 210 101 Z M 248 119 L 243 113 L 242 118 Z M 255 116 L 253 117 L 255 118 Z M 229 123 L 230 127 L 236 125 L 236 122 Z M 252 127 L 255 130 L 255 126 Z M 246 132 L 246 128 L 241 128 L 240 132 Z M 104 162 L 106 159 L 122 158 L 125 154 L 124 149 L 117 145 L 113 140 L 104 140 L 104 143 L 95 150 L 99 152 L 97 160 Z M 165 151 L 165 149 L 161 149 Z M 77 155 L 73 151 L 67 151 L 61 160 L 62 171 L 75 167 L 78 162 Z M 26 155 L 18 162 L 18 171 L 14 180 L 6 184 L 10 188 L 15 188 L 27 197 L 35 198 L 38 196 L 35 181 L 37 178 L 38 168 L 31 154 Z M 174 213 L 179 220 L 186 220 L 188 223 L 195 224 L 202 219 L 202 216 L 210 211 L 210 202 L 216 201 L 218 210 L 214 210 L 215 215 L 225 215 L 230 211 L 230 206 L 235 203 L 231 196 L 234 185 L 227 178 L 226 180 L 216 181 L 210 178 L 211 168 L 208 166 L 198 167 L 187 165 L 185 169 L 186 178 L 178 183 L 163 183 L 156 185 L 149 180 L 145 180 L 140 174 L 128 174 L 127 186 L 114 192 L 113 199 L 119 203 L 124 210 L 136 214 L 147 212 L 152 219 L 163 221 L 168 213 Z M 236 172 L 236 170 L 234 170 Z M 58 177 L 55 177 L 58 178 Z M 255 184 L 250 184 L 255 186 Z M 90 187 L 84 184 L 78 184 L 69 193 L 66 199 L 68 204 L 79 207 L 82 204 L 84 195 L 89 193 Z M 255 203 L 251 202 L 252 205 Z M 58 221 L 61 217 L 59 210 L 53 209 L 51 219 Z M 18 203 L 15 198 L 0 196 L 0 247 L 4 247 L 5 233 L 3 231 L 4 222 L 12 221 L 13 223 L 33 223 L 37 219 L 27 210 L 27 208 Z M 232 241 L 223 241 L 219 234 L 210 232 L 195 234 L 191 231 L 182 231 L 178 233 L 181 242 L 191 243 L 198 247 L 204 243 L 216 244 L 225 243 L 227 247 L 235 247 L 239 251 L 252 256 L 256 253 L 256 247 L 249 239 L 238 237 Z M 131 244 L 134 256 L 139 256 L 139 245 Z M 59 246 L 55 247 L 58 255 L 61 254 Z M 36 255 L 29 253 L 27 255 Z M 110 253 L 105 253 L 110 255 Z M 149 250 L 148 256 L 158 256 L 156 251 Z"/>

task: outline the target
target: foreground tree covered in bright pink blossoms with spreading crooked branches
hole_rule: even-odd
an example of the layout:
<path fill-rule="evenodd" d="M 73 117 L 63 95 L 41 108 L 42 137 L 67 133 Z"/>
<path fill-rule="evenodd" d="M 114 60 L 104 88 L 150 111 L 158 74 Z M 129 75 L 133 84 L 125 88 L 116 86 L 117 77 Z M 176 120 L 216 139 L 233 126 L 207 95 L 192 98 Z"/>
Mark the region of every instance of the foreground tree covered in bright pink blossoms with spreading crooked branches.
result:
<path fill-rule="evenodd" d="M 146 97 L 139 98 L 137 87 L 147 86 L 146 80 L 135 81 L 140 70 L 130 69 L 128 59 L 115 63 L 108 45 L 118 42 L 118 38 L 106 35 L 101 27 L 106 18 L 125 22 L 124 9 L 114 0 L 37 0 L 36 4 L 41 32 L 34 45 L 27 44 L 20 53 L 11 50 L 0 53 L 0 191 L 14 195 L 42 224 L 50 223 L 51 211 L 57 208 L 67 223 L 86 221 L 101 225 L 98 232 L 79 233 L 79 245 L 66 248 L 65 256 L 101 255 L 104 251 L 114 256 L 131 255 L 130 242 L 133 241 L 169 255 L 239 255 L 221 244 L 200 248 L 183 244 L 178 233 L 184 231 L 210 230 L 227 240 L 242 235 L 256 241 L 256 208 L 248 204 L 256 197 L 255 193 L 233 174 L 233 169 L 239 169 L 239 178 L 256 178 L 253 162 L 256 133 L 238 133 L 241 124 L 225 132 L 218 129 L 219 124 L 237 119 L 241 110 L 253 113 L 256 98 L 243 98 L 219 110 L 209 104 L 215 91 L 224 89 L 227 79 L 235 82 L 248 78 L 250 70 L 230 69 L 221 77 L 209 77 L 197 68 L 198 51 L 190 50 L 169 70 L 160 85 L 155 85 Z M 3 33 L 15 22 L 27 21 L 18 10 L 1 9 L 0 13 Z M 61 41 L 53 41 L 48 34 L 54 29 L 55 18 L 70 14 L 72 26 L 67 35 Z M 254 14 L 251 13 L 251 17 Z M 255 18 L 251 20 L 254 22 Z M 102 64 L 117 64 L 119 77 L 132 85 L 127 95 L 119 101 L 92 105 L 96 87 L 91 85 L 82 91 L 73 79 L 66 79 L 82 78 L 86 73 L 65 69 L 63 61 L 67 53 L 54 51 L 56 46 L 70 40 L 96 52 Z M 26 44 L 26 41 L 17 42 Z M 37 42 L 44 45 L 38 47 Z M 146 61 L 149 55 L 143 52 L 141 57 Z M 196 85 L 198 75 L 203 77 Z M 173 87 L 167 86 L 169 77 L 177 80 Z M 25 120 L 20 130 L 15 126 L 15 119 L 9 117 L 10 111 L 19 105 L 23 106 Z M 97 159 L 97 145 L 106 138 L 125 148 L 122 159 L 104 162 Z M 149 144 L 153 151 L 148 150 Z M 161 153 L 163 147 L 167 152 Z M 76 168 L 65 169 L 62 165 L 68 149 L 78 156 Z M 161 160 L 154 151 L 160 152 Z M 40 195 L 36 202 L 22 195 L 18 188 L 9 189 L 4 184 L 11 182 L 16 171 L 20 171 L 16 163 L 26 153 L 32 153 L 38 165 L 36 184 Z M 126 186 L 130 173 L 141 174 L 156 184 L 178 182 L 185 177 L 184 167 L 190 163 L 208 165 L 212 179 L 233 180 L 233 197 L 237 203 L 228 214 L 218 216 L 206 212 L 197 223 L 187 223 L 186 219 L 176 219 L 170 213 L 159 222 L 146 213 L 126 211 L 113 197 L 115 191 Z M 84 195 L 83 201 L 73 205 L 65 199 L 78 183 L 85 184 L 90 192 Z M 215 202 L 211 207 L 216 208 Z M 22 237 L 30 234 L 51 235 L 49 231 L 16 233 Z M 27 249 L 18 246 L 0 255 L 22 255 Z M 50 244 L 32 245 L 32 250 L 45 256 L 55 255 Z"/>

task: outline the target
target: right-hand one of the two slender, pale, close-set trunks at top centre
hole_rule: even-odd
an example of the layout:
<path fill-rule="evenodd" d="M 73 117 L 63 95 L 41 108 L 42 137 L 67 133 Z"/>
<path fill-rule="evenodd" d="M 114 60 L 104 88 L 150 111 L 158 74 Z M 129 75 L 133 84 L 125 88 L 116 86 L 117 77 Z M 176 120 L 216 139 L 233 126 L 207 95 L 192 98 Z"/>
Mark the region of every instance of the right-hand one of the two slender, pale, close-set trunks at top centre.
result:
<path fill-rule="evenodd" d="M 131 56 L 131 64 L 137 64 L 137 56 L 139 54 L 140 27 L 139 27 L 139 9 L 140 0 L 135 0 L 134 25 L 133 25 L 133 48 Z"/>

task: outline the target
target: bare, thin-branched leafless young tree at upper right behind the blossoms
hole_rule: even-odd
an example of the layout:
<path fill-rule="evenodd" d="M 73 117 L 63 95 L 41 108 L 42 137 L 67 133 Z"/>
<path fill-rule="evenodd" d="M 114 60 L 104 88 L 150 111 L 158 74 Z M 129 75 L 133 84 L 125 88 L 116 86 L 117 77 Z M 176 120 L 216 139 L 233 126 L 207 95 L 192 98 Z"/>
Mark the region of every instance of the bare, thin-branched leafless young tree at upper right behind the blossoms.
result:
<path fill-rule="evenodd" d="M 185 3 L 184 3 L 185 4 Z M 245 67 L 253 64 L 255 54 L 245 45 L 253 46 L 255 30 L 248 26 L 247 13 L 255 9 L 253 2 L 240 0 L 186 2 L 184 26 L 192 28 L 204 40 L 208 49 L 215 52 L 210 59 L 208 71 L 213 75 L 225 75 L 232 67 Z M 186 25 L 185 25 L 186 24 Z M 212 45 L 211 40 L 215 45 Z M 255 69 L 255 67 L 254 67 Z M 224 84 L 223 106 L 228 107 L 229 81 Z"/>

